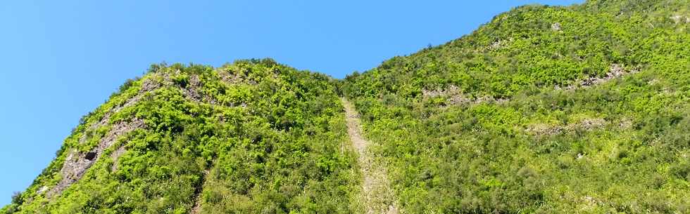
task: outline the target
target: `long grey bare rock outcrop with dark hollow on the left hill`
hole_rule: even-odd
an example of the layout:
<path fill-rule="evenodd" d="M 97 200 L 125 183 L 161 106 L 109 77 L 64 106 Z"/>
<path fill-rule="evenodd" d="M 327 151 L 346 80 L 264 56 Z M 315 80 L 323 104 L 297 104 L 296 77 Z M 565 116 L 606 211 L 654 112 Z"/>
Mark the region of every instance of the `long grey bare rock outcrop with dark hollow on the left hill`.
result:
<path fill-rule="evenodd" d="M 77 182 L 84 176 L 84 173 L 91 168 L 91 166 L 98 161 L 103 152 L 106 149 L 112 147 L 118 138 L 130 131 L 134 131 L 137 128 L 144 128 L 144 121 L 140 119 L 133 119 L 129 122 L 120 122 L 113 125 L 111 131 L 109 131 L 94 149 L 89 152 L 81 153 L 77 151 L 71 151 L 68 154 L 63 168 L 60 170 L 60 175 L 62 180 L 58 182 L 58 185 L 50 189 L 46 196 L 52 198 L 61 194 L 65 189 L 67 189 L 74 182 Z"/>

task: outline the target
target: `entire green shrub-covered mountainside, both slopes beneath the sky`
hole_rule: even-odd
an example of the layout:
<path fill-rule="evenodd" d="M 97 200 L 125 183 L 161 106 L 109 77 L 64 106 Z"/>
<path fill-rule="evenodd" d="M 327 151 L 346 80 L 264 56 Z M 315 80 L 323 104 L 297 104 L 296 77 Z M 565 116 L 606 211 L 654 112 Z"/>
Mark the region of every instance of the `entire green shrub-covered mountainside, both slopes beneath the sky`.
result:
<path fill-rule="evenodd" d="M 521 6 L 343 80 L 152 65 L 0 213 L 371 207 L 690 213 L 690 1 Z"/>

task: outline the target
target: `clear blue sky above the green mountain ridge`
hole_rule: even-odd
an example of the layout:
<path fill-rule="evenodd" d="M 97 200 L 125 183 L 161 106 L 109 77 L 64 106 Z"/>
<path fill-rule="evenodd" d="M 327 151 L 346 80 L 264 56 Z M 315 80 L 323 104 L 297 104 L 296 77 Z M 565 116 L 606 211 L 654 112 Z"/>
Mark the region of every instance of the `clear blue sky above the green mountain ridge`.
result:
<path fill-rule="evenodd" d="M 151 63 L 244 58 L 341 78 L 468 34 L 501 1 L 19 1 L 0 4 L 0 206 L 80 117 Z"/>

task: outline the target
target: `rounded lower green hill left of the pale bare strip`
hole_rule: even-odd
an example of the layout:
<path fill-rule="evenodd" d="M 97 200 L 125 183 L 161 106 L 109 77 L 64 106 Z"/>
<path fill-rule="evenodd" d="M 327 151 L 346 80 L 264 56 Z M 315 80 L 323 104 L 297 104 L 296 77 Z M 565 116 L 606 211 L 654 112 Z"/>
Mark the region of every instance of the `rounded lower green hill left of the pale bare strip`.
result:
<path fill-rule="evenodd" d="M 272 60 L 154 65 L 1 213 L 351 213 L 358 174 L 330 81 Z"/>

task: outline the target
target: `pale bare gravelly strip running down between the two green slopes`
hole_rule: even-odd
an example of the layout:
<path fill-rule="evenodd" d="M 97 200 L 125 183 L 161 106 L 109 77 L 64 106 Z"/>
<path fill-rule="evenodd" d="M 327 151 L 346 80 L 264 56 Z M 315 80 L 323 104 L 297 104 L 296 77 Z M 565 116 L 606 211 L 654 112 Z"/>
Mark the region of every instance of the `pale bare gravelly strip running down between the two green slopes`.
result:
<path fill-rule="evenodd" d="M 359 114 L 352 104 L 345 98 L 341 99 L 345 107 L 347 132 L 350 135 L 352 147 L 359 154 L 358 163 L 364 177 L 360 202 L 366 214 L 398 214 L 398 205 L 390 187 L 386 169 L 375 160 L 369 151 L 369 141 L 362 137 Z"/>

